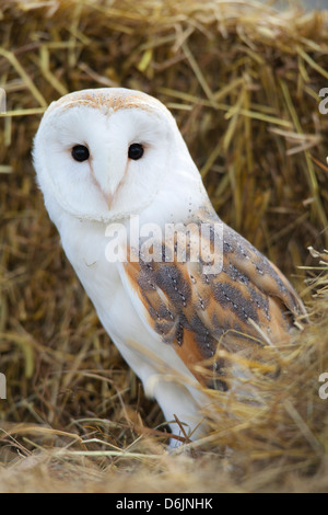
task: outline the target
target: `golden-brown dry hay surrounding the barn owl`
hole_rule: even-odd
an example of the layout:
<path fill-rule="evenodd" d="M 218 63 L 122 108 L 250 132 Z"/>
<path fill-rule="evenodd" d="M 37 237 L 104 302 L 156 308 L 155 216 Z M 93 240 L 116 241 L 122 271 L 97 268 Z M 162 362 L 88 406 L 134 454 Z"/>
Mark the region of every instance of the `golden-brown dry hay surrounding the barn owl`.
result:
<path fill-rule="evenodd" d="M 1 491 L 328 490 L 328 266 L 307 250 L 328 248 L 327 24 L 243 0 L 1 1 Z M 210 435 L 190 454 L 165 451 L 161 411 L 99 325 L 35 185 L 40 114 L 104 85 L 172 110 L 220 216 L 311 313 L 293 344 L 266 350 L 278 377 L 251 368 L 256 404 L 212 392 Z"/>

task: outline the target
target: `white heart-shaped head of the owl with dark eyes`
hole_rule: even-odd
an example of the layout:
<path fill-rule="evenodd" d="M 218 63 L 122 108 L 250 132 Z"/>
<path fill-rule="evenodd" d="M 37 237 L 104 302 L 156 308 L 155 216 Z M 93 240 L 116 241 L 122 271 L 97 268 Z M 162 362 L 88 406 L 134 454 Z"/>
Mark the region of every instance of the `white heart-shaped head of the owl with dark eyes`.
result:
<path fill-rule="evenodd" d="M 133 90 L 83 90 L 52 102 L 34 141 L 47 209 L 108 221 L 139 213 L 164 181 L 195 175 L 169 111 Z"/>

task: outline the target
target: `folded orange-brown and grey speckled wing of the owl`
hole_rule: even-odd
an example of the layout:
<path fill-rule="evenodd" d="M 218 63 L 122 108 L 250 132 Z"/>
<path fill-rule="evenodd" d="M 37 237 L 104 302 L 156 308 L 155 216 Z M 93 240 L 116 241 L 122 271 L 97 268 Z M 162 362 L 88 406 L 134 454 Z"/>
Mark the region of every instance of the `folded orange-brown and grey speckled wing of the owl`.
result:
<path fill-rule="evenodd" d="M 207 213 L 195 220 L 187 239 L 177 231 L 173 248 L 166 240 L 159 243 L 160 260 L 149 254 L 145 260 L 142 250 L 138 255 L 131 250 L 122 278 L 147 328 L 163 345 L 173 345 L 202 381 L 195 365 L 211 358 L 218 346 L 251 357 L 260 346 L 285 340 L 296 318 L 306 312 L 288 279 L 248 241 Z M 210 227 L 206 234 L 203 224 Z M 202 255 L 191 259 L 197 238 L 199 249 L 216 252 L 214 273 L 208 273 Z M 177 249 L 180 240 L 186 242 L 185 261 Z"/>

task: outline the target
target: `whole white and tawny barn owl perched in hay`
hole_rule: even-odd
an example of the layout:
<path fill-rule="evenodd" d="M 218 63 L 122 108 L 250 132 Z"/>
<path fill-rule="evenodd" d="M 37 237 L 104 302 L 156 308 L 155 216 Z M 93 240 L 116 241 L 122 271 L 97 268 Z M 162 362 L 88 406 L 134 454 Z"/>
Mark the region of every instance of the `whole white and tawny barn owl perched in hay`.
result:
<path fill-rule="evenodd" d="M 67 94 L 44 114 L 33 159 L 49 217 L 102 324 L 172 433 L 197 438 L 207 392 L 229 394 L 218 348 L 251 357 L 281 343 L 305 313 L 302 301 L 218 217 L 159 100 L 122 88 Z M 215 380 L 199 367 L 211 358 Z"/>

